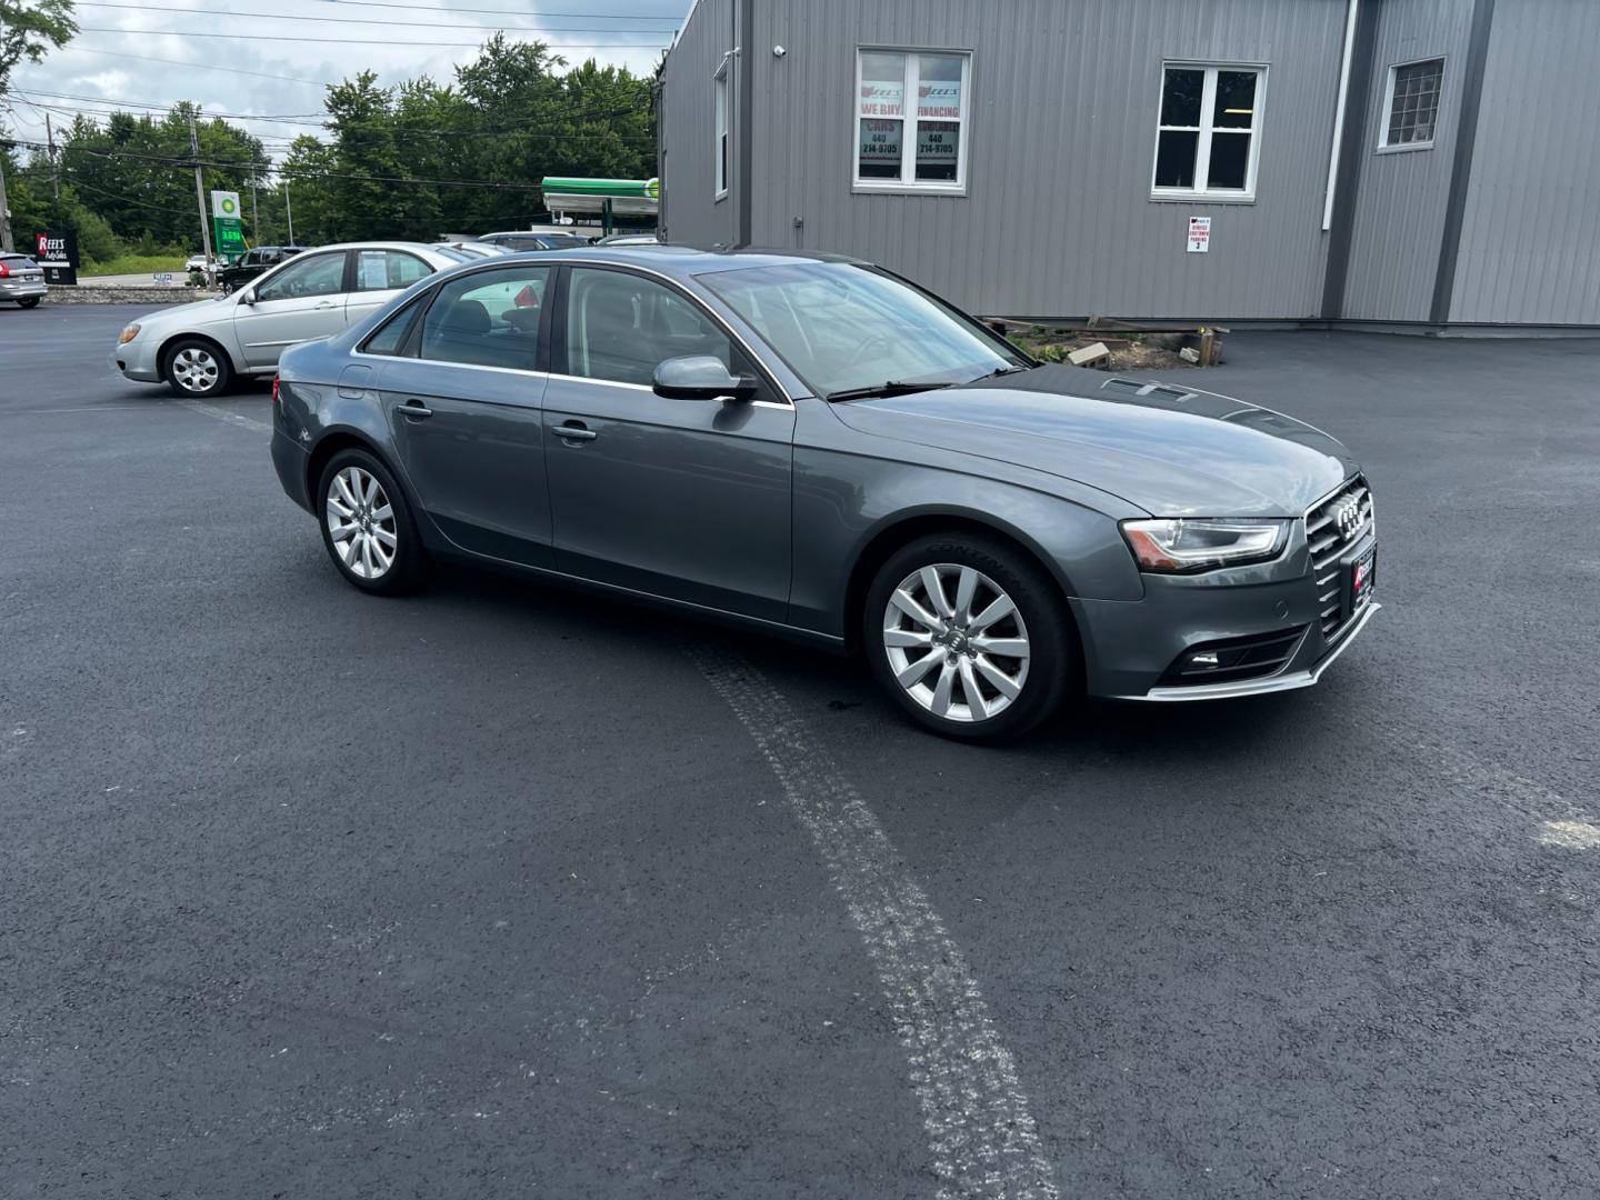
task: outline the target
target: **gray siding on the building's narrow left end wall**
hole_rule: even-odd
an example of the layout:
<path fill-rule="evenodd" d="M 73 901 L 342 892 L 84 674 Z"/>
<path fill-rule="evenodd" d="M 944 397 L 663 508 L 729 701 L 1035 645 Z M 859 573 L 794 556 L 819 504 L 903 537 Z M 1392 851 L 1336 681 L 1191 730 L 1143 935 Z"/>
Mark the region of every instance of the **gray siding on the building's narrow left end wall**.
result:
<path fill-rule="evenodd" d="M 661 78 L 661 194 L 664 232 L 694 246 L 731 245 L 738 234 L 738 165 L 730 154 L 728 195 L 717 202 L 717 123 L 712 80 L 734 48 L 734 0 L 699 0 L 667 56 Z M 738 64 L 730 64 L 730 134 L 738 146 Z"/>

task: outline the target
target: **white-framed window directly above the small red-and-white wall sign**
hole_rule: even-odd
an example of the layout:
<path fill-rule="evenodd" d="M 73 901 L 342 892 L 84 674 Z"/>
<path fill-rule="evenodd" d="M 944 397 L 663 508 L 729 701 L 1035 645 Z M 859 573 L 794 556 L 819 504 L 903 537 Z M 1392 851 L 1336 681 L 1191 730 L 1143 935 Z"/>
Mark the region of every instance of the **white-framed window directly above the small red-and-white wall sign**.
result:
<path fill-rule="evenodd" d="M 1254 200 L 1262 66 L 1162 64 L 1152 200 Z"/>

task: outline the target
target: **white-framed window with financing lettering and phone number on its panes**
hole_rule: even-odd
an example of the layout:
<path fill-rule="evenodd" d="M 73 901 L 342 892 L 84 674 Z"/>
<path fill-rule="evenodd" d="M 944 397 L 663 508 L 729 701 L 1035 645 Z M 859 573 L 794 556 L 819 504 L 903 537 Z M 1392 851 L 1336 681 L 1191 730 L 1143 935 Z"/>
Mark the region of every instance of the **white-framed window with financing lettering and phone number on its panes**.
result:
<path fill-rule="evenodd" d="M 858 190 L 966 190 L 970 74 L 966 51 L 856 51 Z"/>

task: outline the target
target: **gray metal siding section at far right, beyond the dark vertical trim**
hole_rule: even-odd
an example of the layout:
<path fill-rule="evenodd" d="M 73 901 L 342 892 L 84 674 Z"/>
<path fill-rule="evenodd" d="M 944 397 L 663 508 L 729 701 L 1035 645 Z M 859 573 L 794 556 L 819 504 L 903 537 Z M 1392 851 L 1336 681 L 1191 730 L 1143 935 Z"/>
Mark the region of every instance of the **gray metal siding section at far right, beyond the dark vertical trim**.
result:
<path fill-rule="evenodd" d="M 1600 5 L 1501 0 L 1450 320 L 1600 325 Z"/>

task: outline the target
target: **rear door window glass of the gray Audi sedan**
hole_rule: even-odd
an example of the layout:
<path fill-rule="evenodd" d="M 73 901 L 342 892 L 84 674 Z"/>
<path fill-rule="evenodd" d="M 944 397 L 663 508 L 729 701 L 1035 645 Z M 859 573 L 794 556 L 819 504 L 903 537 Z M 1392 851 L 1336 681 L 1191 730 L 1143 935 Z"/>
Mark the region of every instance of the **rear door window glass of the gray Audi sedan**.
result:
<path fill-rule="evenodd" d="M 422 318 L 422 358 L 531 371 L 539 360 L 539 314 L 550 283 L 544 266 L 480 270 L 438 290 Z"/>

